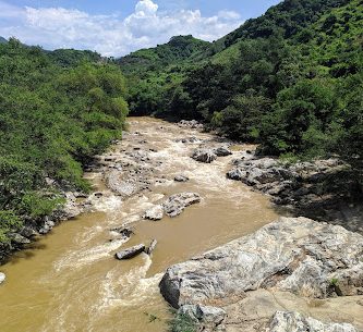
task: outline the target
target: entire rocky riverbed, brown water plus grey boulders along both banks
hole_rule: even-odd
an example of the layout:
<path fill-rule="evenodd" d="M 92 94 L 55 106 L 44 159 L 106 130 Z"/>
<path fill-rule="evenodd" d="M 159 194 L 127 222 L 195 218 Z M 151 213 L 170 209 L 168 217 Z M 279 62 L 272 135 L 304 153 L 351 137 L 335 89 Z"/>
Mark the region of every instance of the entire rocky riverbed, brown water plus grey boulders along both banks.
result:
<path fill-rule="evenodd" d="M 12 246 L 27 249 L 1 267 L 5 332 L 159 332 L 170 318 L 159 283 L 205 331 L 360 330 L 362 236 L 348 231 L 361 231 L 356 213 L 337 214 L 346 229 L 278 220 L 328 210 L 323 184 L 346 165 L 254 150 L 195 121 L 130 120 L 124 139 L 87 167 L 89 196 L 64 193 L 65 207 L 14 234 Z"/>

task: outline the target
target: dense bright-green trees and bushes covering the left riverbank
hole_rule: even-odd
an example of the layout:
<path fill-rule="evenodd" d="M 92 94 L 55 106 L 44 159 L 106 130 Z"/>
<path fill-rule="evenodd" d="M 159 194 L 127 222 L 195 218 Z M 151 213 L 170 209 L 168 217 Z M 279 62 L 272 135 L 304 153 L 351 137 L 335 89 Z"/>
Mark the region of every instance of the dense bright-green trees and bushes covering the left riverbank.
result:
<path fill-rule="evenodd" d="M 83 165 L 121 136 L 125 82 L 99 59 L 0 45 L 0 243 L 51 213 L 58 189 L 87 190 Z"/>

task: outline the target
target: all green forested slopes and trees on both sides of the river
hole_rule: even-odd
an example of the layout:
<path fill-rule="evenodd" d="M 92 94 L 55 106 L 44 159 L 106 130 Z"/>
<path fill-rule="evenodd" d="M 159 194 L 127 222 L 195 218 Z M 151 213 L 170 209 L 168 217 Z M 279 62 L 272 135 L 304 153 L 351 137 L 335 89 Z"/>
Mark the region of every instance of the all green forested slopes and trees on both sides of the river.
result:
<path fill-rule="evenodd" d="M 125 99 L 135 115 L 198 119 L 265 155 L 338 153 L 362 174 L 362 0 L 286 0 L 215 42 L 177 36 L 116 63 L 4 41 L 2 242 L 61 202 L 49 180 L 87 190 L 83 165 L 121 136 Z"/>

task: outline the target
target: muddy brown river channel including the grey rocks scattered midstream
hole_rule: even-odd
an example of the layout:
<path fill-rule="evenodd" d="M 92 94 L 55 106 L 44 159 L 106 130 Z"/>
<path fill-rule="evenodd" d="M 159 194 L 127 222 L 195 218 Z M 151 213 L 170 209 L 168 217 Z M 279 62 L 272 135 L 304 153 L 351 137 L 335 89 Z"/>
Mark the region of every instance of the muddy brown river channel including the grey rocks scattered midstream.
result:
<path fill-rule="evenodd" d="M 49 232 L 0 267 L 5 332 L 165 331 L 162 272 L 277 218 L 265 196 L 226 177 L 247 147 L 227 153 L 231 143 L 196 123 L 129 124 L 87 167 L 93 193 L 64 193 L 74 218 L 40 224 L 33 231 Z M 191 158 L 208 148 L 211 163 Z"/>

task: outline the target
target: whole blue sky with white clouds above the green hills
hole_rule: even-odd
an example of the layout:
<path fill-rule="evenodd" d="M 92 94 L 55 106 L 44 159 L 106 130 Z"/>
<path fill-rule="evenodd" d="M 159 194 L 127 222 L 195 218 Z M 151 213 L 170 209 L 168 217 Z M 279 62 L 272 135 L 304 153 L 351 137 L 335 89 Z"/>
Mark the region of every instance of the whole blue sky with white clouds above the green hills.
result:
<path fill-rule="evenodd" d="M 280 0 L 0 0 L 0 36 L 120 57 L 193 35 L 216 40 Z"/>

